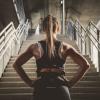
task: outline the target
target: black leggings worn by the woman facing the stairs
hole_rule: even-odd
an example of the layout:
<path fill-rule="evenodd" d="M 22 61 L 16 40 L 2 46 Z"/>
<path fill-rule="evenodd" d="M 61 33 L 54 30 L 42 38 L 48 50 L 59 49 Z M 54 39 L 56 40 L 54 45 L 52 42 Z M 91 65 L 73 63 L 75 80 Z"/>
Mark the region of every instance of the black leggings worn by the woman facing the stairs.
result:
<path fill-rule="evenodd" d="M 68 87 L 58 81 L 58 79 L 38 80 L 38 82 L 36 83 L 38 85 L 36 85 L 34 89 L 33 100 L 71 100 Z M 50 82 L 53 84 L 51 84 Z"/>

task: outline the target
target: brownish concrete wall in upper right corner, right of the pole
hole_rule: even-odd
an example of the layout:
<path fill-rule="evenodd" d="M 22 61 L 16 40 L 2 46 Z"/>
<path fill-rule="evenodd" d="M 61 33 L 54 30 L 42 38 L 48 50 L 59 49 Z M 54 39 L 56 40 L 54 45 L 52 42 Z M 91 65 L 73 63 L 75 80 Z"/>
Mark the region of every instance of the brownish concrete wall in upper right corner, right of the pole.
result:
<path fill-rule="evenodd" d="M 66 0 L 67 6 L 68 0 Z M 67 11 L 66 7 L 66 11 Z M 97 23 L 100 19 L 100 0 L 71 0 L 70 14 L 86 26 L 90 20 Z"/>

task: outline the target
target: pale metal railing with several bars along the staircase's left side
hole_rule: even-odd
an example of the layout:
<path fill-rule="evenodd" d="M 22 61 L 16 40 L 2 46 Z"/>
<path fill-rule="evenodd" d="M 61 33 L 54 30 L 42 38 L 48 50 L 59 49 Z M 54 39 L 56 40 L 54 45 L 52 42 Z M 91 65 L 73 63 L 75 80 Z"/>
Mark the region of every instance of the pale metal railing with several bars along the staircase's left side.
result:
<path fill-rule="evenodd" d="M 17 52 L 18 53 L 22 41 L 24 41 L 26 39 L 25 35 L 27 35 L 27 33 L 25 33 L 25 32 L 29 28 L 28 25 L 29 25 L 29 22 L 27 21 L 26 23 L 23 23 L 22 27 L 21 27 L 21 25 L 19 25 L 18 28 L 15 29 L 13 22 L 11 22 L 0 33 L 0 61 L 1 62 L 3 61 L 2 63 L 0 63 L 0 64 L 2 64 L 2 68 L 0 68 L 0 77 L 1 77 L 2 73 L 4 72 L 4 69 L 5 69 L 6 65 L 7 65 L 10 57 L 13 56 L 12 52 Z M 14 41 L 15 42 L 17 41 L 16 43 L 17 43 L 18 47 L 16 47 L 16 49 L 12 48 L 12 46 L 15 45 L 15 44 L 13 44 Z M 9 50 L 8 48 L 10 48 L 10 51 L 7 51 L 7 50 Z M 7 56 L 7 58 L 5 58 L 5 55 L 8 52 L 9 52 L 9 56 Z M 5 60 L 5 59 L 7 59 L 7 60 Z"/>

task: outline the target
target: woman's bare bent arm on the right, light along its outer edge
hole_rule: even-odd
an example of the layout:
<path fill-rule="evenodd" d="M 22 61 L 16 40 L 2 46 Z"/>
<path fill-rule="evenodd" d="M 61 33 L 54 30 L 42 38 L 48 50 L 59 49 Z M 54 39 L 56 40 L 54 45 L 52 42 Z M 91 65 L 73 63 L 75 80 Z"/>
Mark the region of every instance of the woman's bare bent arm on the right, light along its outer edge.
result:
<path fill-rule="evenodd" d="M 69 48 L 66 51 L 67 56 L 70 56 L 79 66 L 78 73 L 73 76 L 73 78 L 69 81 L 69 86 L 74 86 L 86 73 L 87 69 L 90 67 L 88 61 L 79 54 L 73 47 Z"/>

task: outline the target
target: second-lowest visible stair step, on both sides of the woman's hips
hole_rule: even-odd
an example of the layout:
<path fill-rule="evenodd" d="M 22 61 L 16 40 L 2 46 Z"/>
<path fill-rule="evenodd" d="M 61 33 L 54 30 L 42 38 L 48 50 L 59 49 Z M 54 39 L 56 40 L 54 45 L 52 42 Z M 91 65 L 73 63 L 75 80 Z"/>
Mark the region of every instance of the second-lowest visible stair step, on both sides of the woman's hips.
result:
<path fill-rule="evenodd" d="M 100 87 L 73 87 L 71 93 L 100 93 Z M 4 93 L 33 93 L 30 87 L 3 87 L 0 88 L 0 94 Z"/>

